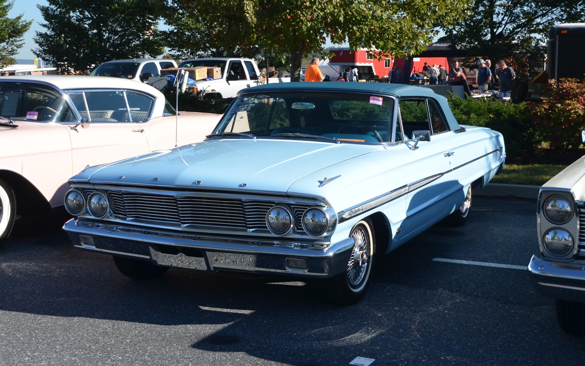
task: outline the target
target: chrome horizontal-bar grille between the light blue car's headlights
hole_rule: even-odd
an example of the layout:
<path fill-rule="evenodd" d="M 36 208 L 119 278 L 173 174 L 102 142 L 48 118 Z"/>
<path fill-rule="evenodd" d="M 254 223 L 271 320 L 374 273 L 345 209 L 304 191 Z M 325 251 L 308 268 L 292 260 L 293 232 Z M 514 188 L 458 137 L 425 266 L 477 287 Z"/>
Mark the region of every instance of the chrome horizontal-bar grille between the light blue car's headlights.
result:
<path fill-rule="evenodd" d="M 86 196 L 95 190 L 85 190 Z M 180 196 L 104 190 L 116 218 L 154 221 L 162 225 L 197 225 L 230 230 L 266 229 L 266 214 L 278 203 L 270 200 L 249 200 L 233 197 Z M 288 203 L 292 208 L 297 230 L 302 214 L 311 203 Z"/>

